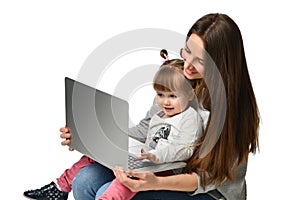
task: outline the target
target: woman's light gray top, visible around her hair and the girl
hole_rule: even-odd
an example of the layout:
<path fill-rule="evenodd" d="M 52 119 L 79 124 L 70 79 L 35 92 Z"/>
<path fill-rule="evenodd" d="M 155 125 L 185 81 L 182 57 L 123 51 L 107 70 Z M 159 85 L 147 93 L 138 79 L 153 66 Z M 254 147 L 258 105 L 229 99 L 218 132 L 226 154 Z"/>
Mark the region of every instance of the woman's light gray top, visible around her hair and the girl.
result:
<path fill-rule="evenodd" d="M 195 105 L 191 105 L 195 107 Z M 156 114 L 160 108 L 153 104 L 151 109 L 147 112 L 144 119 L 142 119 L 138 125 L 130 128 L 130 136 L 141 141 L 145 142 L 147 138 L 147 130 L 149 127 L 149 122 L 151 117 Z M 203 109 L 198 109 L 199 115 L 203 121 L 203 127 L 206 126 L 209 112 Z M 247 162 L 242 163 L 239 168 L 234 173 L 234 180 L 225 180 L 219 187 L 216 188 L 215 185 L 208 185 L 205 190 L 200 185 L 200 177 L 198 178 L 198 189 L 191 195 L 196 195 L 199 193 L 209 193 L 214 197 L 214 194 L 217 192 L 221 193 L 223 197 L 227 200 L 245 200 L 246 199 L 246 171 L 247 171 Z M 217 197 L 214 197 L 218 199 Z"/>

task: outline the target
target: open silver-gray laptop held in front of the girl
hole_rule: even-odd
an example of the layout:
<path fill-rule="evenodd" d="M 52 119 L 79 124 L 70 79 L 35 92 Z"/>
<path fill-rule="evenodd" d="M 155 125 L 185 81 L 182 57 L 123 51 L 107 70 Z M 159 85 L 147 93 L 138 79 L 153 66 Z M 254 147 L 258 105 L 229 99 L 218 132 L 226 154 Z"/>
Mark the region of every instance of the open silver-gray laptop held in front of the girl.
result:
<path fill-rule="evenodd" d="M 186 166 L 185 162 L 154 164 L 134 161 L 149 147 L 128 136 L 129 104 L 101 90 L 65 78 L 66 126 L 72 133 L 70 147 L 113 169 L 159 172 Z"/>

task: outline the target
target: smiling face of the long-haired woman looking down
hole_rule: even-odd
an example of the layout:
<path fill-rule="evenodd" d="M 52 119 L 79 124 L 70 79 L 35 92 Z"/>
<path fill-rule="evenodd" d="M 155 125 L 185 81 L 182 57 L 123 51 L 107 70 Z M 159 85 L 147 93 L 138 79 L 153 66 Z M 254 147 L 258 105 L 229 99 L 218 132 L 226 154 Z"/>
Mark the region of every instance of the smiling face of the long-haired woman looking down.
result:
<path fill-rule="evenodd" d="M 196 34 L 192 34 L 185 46 L 181 49 L 181 57 L 184 59 L 184 75 L 190 80 L 203 78 L 204 55 L 203 40 Z"/>

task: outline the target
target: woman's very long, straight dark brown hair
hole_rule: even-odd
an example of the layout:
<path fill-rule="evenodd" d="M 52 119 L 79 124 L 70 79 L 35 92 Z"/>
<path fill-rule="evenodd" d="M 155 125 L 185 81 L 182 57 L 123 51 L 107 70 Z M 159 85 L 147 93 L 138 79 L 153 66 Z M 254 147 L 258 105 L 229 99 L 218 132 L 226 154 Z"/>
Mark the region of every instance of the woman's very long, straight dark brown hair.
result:
<path fill-rule="evenodd" d="M 203 40 L 206 50 L 205 74 L 196 86 L 196 95 L 210 116 L 187 169 L 197 172 L 205 187 L 233 180 L 234 170 L 247 162 L 250 152 L 256 152 L 260 117 L 236 23 L 225 14 L 208 14 L 194 23 L 187 40 L 192 34 Z M 214 66 L 221 77 L 219 81 L 212 73 Z M 212 109 L 220 102 L 222 88 L 226 96 L 224 123 L 218 122 L 222 110 Z M 207 138 L 211 139 L 215 132 L 220 132 L 219 138 L 212 137 L 215 145 L 203 154 Z"/>

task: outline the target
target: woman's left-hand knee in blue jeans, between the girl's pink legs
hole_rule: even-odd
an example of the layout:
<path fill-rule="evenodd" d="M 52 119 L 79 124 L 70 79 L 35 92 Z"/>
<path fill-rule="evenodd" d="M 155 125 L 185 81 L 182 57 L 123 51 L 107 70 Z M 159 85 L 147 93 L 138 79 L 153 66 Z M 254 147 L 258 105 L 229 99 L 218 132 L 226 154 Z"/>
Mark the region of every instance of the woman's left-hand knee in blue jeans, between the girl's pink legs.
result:
<path fill-rule="evenodd" d="M 73 180 L 74 198 L 94 200 L 98 189 L 114 178 L 112 170 L 96 162 L 90 164 L 82 168 Z"/>

